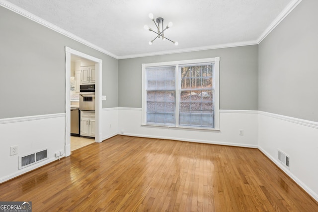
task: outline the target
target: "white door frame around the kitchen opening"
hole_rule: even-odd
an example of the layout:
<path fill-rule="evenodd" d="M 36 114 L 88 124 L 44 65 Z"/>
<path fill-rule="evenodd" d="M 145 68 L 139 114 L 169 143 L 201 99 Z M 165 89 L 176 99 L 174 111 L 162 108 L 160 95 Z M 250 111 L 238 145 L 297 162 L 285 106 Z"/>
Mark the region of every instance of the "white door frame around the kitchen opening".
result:
<path fill-rule="evenodd" d="M 70 77 L 71 77 L 71 54 L 77 55 L 81 58 L 95 62 L 95 142 L 101 142 L 101 72 L 102 63 L 101 59 L 86 55 L 82 52 L 71 49 L 70 47 L 65 47 L 65 156 L 71 155 L 71 97 L 70 97 Z"/>

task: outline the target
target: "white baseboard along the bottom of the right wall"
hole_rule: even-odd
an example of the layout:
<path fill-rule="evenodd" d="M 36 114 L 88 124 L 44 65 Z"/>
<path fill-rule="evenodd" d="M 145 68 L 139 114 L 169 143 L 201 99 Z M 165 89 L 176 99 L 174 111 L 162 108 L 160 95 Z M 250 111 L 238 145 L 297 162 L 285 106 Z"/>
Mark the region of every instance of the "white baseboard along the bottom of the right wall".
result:
<path fill-rule="evenodd" d="M 287 120 L 286 120 L 287 121 Z M 291 173 L 291 171 L 286 168 L 282 163 L 278 162 L 276 158 L 266 152 L 263 148 L 258 146 L 258 149 L 263 152 L 273 163 L 275 163 L 283 172 L 285 172 L 290 178 L 292 178 L 300 187 L 302 187 L 310 196 L 312 196 L 316 201 L 318 201 L 318 194 L 311 190 L 307 185 L 305 185 L 300 179 Z"/>

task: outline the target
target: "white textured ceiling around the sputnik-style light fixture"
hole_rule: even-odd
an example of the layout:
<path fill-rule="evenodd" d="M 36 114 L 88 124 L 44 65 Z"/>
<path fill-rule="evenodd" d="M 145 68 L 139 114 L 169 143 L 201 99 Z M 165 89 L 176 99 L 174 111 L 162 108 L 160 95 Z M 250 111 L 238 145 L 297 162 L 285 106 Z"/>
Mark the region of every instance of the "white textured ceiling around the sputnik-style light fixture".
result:
<path fill-rule="evenodd" d="M 7 0 L 119 58 L 255 42 L 293 0 Z M 156 39 L 152 12 L 173 26 Z"/>

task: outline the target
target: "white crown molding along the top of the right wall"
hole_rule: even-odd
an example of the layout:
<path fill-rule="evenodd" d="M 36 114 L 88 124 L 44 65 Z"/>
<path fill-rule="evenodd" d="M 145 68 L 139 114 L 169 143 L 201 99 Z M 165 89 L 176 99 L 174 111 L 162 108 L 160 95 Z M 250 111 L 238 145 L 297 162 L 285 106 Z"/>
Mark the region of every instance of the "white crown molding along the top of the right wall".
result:
<path fill-rule="evenodd" d="M 279 13 L 279 15 L 275 18 L 275 20 L 265 29 L 265 31 L 258 37 L 257 44 L 262 42 L 266 36 L 276 28 L 276 26 L 285 19 L 285 17 L 293 11 L 293 9 L 301 2 L 302 0 L 292 0 L 284 10 Z"/>

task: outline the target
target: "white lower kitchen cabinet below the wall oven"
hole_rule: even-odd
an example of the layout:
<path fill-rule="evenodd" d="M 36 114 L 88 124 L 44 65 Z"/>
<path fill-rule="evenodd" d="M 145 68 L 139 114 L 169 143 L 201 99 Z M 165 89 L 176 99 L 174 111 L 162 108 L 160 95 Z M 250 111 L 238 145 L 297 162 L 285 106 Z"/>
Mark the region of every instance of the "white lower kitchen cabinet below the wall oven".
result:
<path fill-rule="evenodd" d="M 95 137 L 95 112 L 80 111 L 80 135 Z"/>

